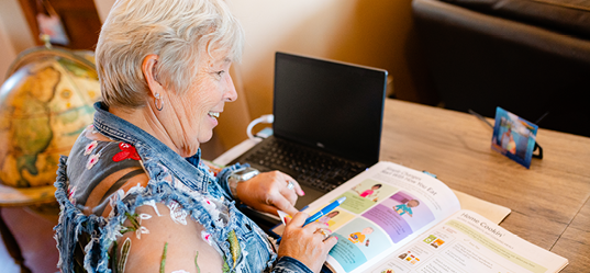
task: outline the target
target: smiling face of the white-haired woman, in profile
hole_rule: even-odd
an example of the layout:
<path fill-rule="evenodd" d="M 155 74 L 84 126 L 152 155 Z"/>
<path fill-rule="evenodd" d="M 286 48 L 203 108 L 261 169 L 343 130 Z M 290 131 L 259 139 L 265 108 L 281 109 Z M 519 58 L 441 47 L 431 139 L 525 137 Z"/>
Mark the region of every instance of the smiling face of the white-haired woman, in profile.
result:
<path fill-rule="evenodd" d="M 172 103 L 182 105 L 175 106 L 175 111 L 179 112 L 183 135 L 177 147 L 183 156 L 194 155 L 199 144 L 211 139 L 225 102 L 237 99 L 230 77 L 231 65 L 225 52 L 214 50 L 211 55 L 202 52 L 194 82 L 186 94 L 175 98 Z"/>

